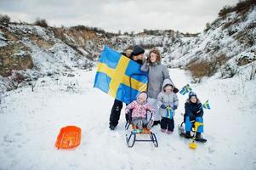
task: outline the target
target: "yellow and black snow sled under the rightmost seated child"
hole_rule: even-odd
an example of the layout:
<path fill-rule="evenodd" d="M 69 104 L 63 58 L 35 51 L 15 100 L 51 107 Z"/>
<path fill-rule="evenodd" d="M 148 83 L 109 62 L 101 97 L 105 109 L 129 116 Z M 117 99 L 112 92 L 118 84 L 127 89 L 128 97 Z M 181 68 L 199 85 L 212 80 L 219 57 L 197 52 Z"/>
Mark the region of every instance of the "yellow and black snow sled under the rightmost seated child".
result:
<path fill-rule="evenodd" d="M 206 143 L 207 140 L 206 139 L 204 139 L 204 140 L 196 139 L 197 128 L 200 127 L 200 126 L 203 126 L 203 123 L 202 122 L 195 122 L 195 121 L 191 121 L 191 123 L 193 123 L 192 130 L 191 130 L 193 134 L 192 134 L 192 138 L 191 138 L 192 142 L 189 144 L 189 146 L 190 146 L 191 149 L 196 150 L 196 148 L 197 148 L 196 142 Z M 185 137 L 184 124 L 185 124 L 185 122 L 182 122 L 180 125 L 178 125 L 179 136 L 181 136 L 181 137 Z"/>

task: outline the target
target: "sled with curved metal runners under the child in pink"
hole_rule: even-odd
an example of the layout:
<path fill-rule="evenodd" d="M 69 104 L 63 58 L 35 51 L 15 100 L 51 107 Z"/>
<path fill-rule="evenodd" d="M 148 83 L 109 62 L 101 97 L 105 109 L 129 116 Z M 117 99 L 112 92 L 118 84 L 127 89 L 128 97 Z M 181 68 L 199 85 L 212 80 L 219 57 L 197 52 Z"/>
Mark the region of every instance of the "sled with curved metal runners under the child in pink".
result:
<path fill-rule="evenodd" d="M 158 142 L 156 139 L 156 134 L 152 133 L 147 127 L 143 127 L 142 130 L 139 127 L 135 126 L 131 120 L 131 113 L 132 111 L 128 112 L 128 122 L 126 124 L 126 142 L 129 148 L 133 147 L 135 142 L 152 142 L 155 147 L 158 147 Z M 151 113 L 151 112 L 150 112 Z M 152 118 L 152 113 L 151 113 Z M 151 118 L 149 122 L 151 122 Z M 130 126 L 131 125 L 131 126 Z M 146 136 L 148 135 L 150 139 L 137 139 L 137 136 Z"/>

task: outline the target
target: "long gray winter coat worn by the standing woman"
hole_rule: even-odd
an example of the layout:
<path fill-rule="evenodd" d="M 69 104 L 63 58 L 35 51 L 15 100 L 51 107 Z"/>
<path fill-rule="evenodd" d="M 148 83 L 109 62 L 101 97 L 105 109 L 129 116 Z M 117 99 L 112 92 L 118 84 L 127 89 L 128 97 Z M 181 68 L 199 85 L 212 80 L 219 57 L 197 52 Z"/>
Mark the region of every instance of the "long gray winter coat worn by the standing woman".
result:
<path fill-rule="evenodd" d="M 163 80 L 166 78 L 170 79 L 168 68 L 160 63 L 154 63 L 150 65 L 145 60 L 143 65 L 140 67 L 140 70 L 149 73 L 147 92 L 149 94 L 149 98 L 156 99 L 157 95 L 162 91 Z M 171 79 L 170 81 L 172 82 Z"/>

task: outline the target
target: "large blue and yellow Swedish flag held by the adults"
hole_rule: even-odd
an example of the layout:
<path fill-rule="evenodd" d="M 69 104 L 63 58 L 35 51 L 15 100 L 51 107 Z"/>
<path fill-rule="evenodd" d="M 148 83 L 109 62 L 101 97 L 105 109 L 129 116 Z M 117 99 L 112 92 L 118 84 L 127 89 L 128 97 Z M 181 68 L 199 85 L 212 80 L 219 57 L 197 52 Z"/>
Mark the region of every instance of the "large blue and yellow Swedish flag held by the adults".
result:
<path fill-rule="evenodd" d="M 136 99 L 137 94 L 146 91 L 148 74 L 140 71 L 140 66 L 128 57 L 105 46 L 100 54 L 94 88 L 124 103 Z"/>

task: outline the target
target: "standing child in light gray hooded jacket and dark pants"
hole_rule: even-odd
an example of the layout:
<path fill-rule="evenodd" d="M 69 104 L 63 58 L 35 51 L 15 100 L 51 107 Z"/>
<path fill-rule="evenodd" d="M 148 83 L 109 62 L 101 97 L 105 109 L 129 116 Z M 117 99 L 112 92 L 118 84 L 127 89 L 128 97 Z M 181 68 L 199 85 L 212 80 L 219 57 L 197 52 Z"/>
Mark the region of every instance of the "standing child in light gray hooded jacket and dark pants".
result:
<path fill-rule="evenodd" d="M 174 111 L 179 105 L 177 94 L 174 94 L 174 84 L 165 79 L 162 83 L 162 92 L 157 96 L 157 104 L 160 106 L 159 115 L 162 117 L 160 125 L 161 132 L 168 134 L 174 132 Z"/>

